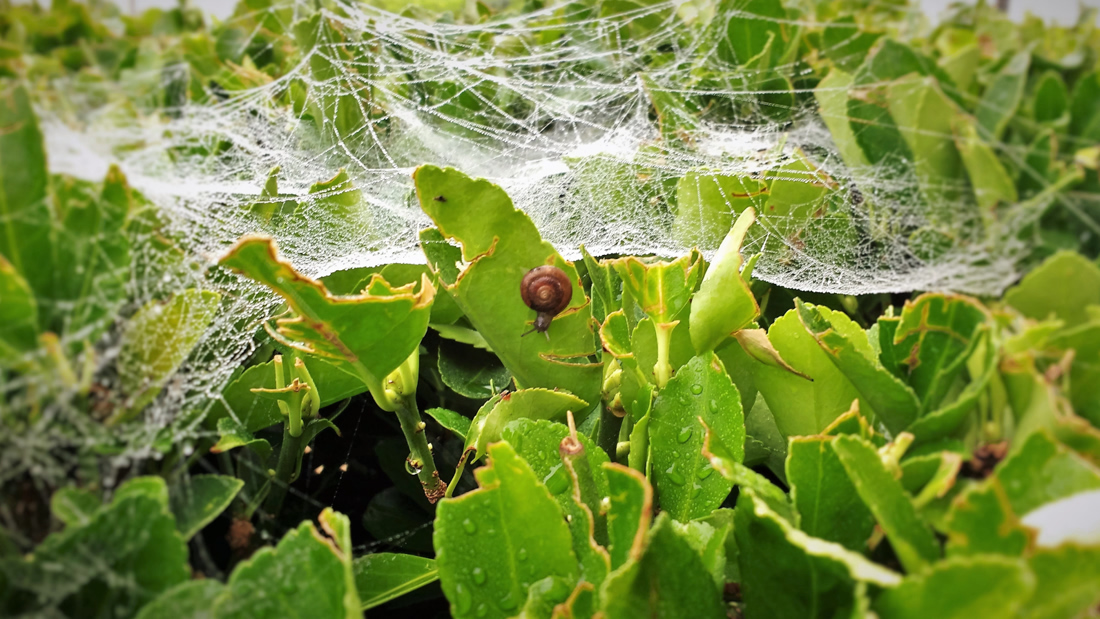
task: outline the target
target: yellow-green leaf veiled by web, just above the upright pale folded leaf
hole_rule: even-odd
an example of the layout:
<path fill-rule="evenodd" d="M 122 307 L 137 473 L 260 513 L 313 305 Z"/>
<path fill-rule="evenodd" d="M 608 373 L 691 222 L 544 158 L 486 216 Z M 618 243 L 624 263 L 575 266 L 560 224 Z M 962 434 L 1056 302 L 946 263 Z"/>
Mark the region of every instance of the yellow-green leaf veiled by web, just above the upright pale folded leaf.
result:
<path fill-rule="evenodd" d="M 747 176 L 689 170 L 676 183 L 672 237 L 683 247 L 717 248 L 734 218 L 751 208 L 767 191 L 767 185 Z"/>

